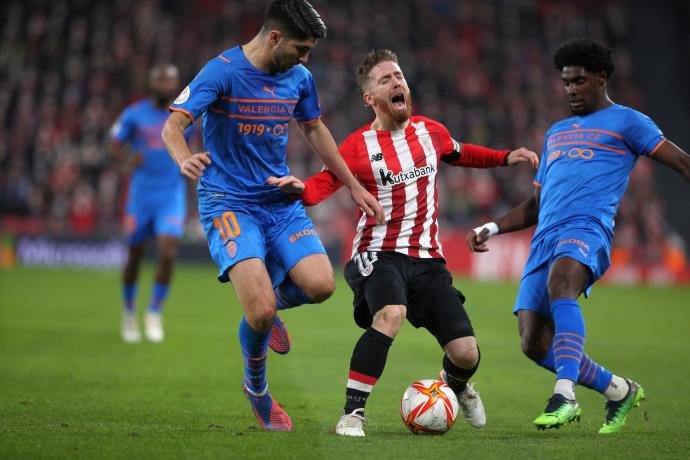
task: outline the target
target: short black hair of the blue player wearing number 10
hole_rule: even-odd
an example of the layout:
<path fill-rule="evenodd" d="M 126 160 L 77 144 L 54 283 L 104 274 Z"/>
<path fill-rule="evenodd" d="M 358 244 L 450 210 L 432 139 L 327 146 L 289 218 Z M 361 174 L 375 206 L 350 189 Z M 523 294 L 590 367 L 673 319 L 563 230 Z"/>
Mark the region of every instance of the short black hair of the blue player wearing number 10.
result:
<path fill-rule="evenodd" d="M 278 29 L 288 38 L 326 38 L 326 25 L 306 0 L 271 0 L 264 10 L 262 31 Z"/>

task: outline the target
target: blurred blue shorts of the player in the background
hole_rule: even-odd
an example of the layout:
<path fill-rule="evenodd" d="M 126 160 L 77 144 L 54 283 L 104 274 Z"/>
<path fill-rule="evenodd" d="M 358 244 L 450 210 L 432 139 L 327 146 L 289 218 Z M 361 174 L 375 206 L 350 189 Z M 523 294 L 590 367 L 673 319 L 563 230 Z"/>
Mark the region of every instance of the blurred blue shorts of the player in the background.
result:
<path fill-rule="evenodd" d="M 184 193 L 175 193 L 163 200 L 130 199 L 125 216 L 127 243 L 135 246 L 152 236 L 161 235 L 181 238 L 186 208 Z"/>

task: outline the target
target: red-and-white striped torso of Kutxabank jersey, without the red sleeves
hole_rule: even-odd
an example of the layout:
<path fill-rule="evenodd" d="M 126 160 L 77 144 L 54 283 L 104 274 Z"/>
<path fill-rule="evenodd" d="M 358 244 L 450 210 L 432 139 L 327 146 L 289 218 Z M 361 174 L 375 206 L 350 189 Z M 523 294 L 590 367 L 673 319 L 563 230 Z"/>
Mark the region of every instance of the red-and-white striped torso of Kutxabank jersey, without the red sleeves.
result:
<path fill-rule="evenodd" d="M 361 215 L 353 256 L 366 251 L 395 251 L 419 258 L 443 257 L 436 189 L 442 152 L 428 128 L 427 122 L 418 119 L 404 131 L 361 132 L 358 150 L 366 153 L 366 158 L 360 157 L 360 178 L 381 203 L 386 218 L 384 224 L 377 225 L 373 218 Z"/>

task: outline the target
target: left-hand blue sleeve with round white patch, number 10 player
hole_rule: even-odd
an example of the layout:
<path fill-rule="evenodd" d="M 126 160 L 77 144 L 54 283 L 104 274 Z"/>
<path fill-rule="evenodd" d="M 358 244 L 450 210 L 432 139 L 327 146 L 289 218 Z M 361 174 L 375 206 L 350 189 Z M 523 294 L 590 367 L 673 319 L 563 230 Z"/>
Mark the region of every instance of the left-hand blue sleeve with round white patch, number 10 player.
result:
<path fill-rule="evenodd" d="M 209 61 L 177 96 L 170 110 L 182 112 L 192 121 L 199 118 L 221 95 L 229 92 L 229 69 L 230 63 L 221 57 Z"/>

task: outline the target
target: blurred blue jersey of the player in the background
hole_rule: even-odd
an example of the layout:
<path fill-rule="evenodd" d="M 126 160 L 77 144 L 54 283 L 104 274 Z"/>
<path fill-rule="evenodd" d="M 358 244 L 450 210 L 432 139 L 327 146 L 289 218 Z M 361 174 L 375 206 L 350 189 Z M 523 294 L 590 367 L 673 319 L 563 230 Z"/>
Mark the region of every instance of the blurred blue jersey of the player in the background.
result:
<path fill-rule="evenodd" d="M 130 200 L 165 199 L 172 191 L 184 190 L 180 168 L 161 140 L 168 115 L 165 108 L 143 99 L 128 106 L 110 129 L 113 140 L 127 144 L 132 154 L 143 156 L 143 163 L 132 173 Z M 185 138 L 190 140 L 193 132 L 193 128 L 186 130 Z"/>

